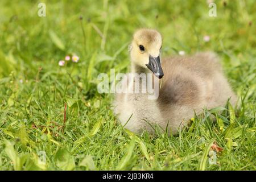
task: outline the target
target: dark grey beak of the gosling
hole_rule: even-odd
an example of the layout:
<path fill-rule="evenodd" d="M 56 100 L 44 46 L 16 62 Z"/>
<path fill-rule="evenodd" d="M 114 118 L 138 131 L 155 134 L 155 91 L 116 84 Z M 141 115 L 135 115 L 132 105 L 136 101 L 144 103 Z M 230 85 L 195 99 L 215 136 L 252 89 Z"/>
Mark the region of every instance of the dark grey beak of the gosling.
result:
<path fill-rule="evenodd" d="M 161 79 L 163 77 L 163 69 L 161 67 L 161 63 L 160 63 L 160 57 L 152 57 L 150 55 L 150 60 L 149 63 L 146 64 L 147 68 L 151 70 L 151 72 L 154 73 L 154 75 L 156 77 L 158 77 L 159 79 Z"/>

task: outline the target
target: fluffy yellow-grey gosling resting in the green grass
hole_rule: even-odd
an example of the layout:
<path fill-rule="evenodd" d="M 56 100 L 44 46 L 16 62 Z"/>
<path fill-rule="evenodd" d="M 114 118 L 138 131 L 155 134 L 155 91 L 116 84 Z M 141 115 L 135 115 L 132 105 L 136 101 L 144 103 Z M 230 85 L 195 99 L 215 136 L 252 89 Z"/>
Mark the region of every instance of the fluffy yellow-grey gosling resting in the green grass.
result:
<path fill-rule="evenodd" d="M 212 52 L 193 56 L 173 56 L 160 59 L 162 36 L 156 30 L 140 29 L 130 44 L 131 73 L 133 79 L 124 77 L 122 83 L 134 91 L 135 78 L 141 73 L 152 79 L 140 81 L 143 86 L 154 87 L 158 82 L 159 96 L 148 99 L 149 93 L 116 93 L 114 113 L 121 124 L 134 133 L 154 134 L 154 126 L 176 134 L 187 125 L 195 112 L 203 108 L 224 106 L 229 100 L 234 105 L 237 96 L 226 80 L 217 56 Z M 142 90 L 140 88 L 140 91 Z"/>

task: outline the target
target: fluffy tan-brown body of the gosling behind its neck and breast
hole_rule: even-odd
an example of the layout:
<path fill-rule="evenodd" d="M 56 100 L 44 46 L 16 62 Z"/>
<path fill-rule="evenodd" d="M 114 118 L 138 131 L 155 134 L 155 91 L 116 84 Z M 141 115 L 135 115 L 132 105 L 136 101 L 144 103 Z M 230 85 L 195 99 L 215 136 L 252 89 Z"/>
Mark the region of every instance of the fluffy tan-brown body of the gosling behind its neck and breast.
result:
<path fill-rule="evenodd" d="M 164 119 L 187 120 L 203 107 L 224 106 L 237 97 L 226 80 L 217 56 L 212 52 L 194 56 L 167 57 L 162 62 L 165 73 L 158 104 Z M 179 123 L 179 121 L 176 121 Z"/>

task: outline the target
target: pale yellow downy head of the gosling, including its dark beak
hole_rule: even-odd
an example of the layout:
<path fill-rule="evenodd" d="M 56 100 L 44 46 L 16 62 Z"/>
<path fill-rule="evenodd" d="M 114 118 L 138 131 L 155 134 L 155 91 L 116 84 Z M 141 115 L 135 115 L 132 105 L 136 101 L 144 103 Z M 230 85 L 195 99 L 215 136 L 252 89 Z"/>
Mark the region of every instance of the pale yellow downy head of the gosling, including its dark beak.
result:
<path fill-rule="evenodd" d="M 163 77 L 160 63 L 162 36 L 156 30 L 139 29 L 133 35 L 130 55 L 131 61 L 140 67 L 148 68 L 158 78 Z"/>

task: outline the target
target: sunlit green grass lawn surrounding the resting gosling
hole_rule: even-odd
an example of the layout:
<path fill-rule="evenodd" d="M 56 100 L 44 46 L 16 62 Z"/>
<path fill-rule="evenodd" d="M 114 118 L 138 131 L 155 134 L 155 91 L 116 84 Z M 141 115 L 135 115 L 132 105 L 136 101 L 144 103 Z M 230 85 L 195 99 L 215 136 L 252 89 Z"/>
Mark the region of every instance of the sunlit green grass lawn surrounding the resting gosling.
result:
<path fill-rule="evenodd" d="M 37 15 L 39 2 L 0 1 L 1 170 L 256 169 L 254 0 L 217 1 L 215 18 L 207 1 L 44 2 L 46 17 Z M 169 137 L 122 129 L 113 95 L 97 92 L 97 76 L 129 71 L 127 45 L 140 27 L 162 33 L 163 56 L 218 53 L 240 96 L 236 115 L 230 106 L 204 111 Z M 59 67 L 70 53 L 79 63 Z M 212 142 L 223 148 L 217 164 L 208 160 Z"/>

